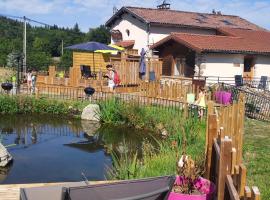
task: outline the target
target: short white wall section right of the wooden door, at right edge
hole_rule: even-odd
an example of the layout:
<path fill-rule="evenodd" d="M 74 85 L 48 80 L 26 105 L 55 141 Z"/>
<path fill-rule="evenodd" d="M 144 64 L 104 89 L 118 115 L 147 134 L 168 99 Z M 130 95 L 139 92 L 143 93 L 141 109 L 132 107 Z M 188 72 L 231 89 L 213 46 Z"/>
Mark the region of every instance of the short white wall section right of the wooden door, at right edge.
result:
<path fill-rule="evenodd" d="M 270 77 L 270 56 L 258 56 L 255 61 L 255 77 L 261 76 Z"/>

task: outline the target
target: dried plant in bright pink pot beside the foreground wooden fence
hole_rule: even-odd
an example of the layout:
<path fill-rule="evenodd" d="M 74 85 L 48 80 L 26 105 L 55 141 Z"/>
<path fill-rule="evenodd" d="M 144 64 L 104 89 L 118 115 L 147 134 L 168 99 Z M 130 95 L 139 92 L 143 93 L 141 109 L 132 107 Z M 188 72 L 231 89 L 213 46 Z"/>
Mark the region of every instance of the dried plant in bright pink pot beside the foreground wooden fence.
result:
<path fill-rule="evenodd" d="M 184 149 L 185 146 L 184 144 Z M 178 156 L 178 153 L 176 155 Z M 169 200 L 213 199 L 215 185 L 200 176 L 199 167 L 186 153 L 183 153 L 177 162 L 177 174 Z"/>

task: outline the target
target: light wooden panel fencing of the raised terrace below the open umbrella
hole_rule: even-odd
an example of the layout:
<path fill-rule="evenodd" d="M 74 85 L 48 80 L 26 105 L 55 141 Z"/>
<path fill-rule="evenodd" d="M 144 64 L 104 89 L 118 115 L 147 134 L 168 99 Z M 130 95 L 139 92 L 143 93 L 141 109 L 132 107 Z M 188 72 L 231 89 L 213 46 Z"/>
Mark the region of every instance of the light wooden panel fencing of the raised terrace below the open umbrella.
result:
<path fill-rule="evenodd" d="M 139 60 L 138 59 L 114 59 L 110 62 L 117 71 L 121 83 L 121 86 L 136 86 L 143 80 L 149 80 L 150 73 L 151 78 L 160 80 L 162 71 L 162 61 L 158 59 L 149 59 L 146 61 L 146 73 L 143 77 L 139 74 Z M 104 69 L 96 71 L 95 78 L 84 78 L 81 74 L 80 67 L 70 67 L 68 77 L 57 77 L 55 66 L 49 67 L 49 75 L 38 75 L 37 84 L 44 85 L 63 85 L 71 87 L 89 86 L 89 82 L 96 85 L 95 82 L 108 80 L 104 78 Z M 153 75 L 154 74 L 154 75 Z"/>

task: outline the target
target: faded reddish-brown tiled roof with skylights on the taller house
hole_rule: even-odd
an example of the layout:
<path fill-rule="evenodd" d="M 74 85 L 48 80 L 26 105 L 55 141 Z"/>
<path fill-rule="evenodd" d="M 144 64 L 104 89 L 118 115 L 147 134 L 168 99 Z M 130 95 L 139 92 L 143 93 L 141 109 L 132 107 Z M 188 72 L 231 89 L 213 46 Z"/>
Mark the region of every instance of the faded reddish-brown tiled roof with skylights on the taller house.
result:
<path fill-rule="evenodd" d="M 191 26 L 208 29 L 214 29 L 217 27 L 243 28 L 252 30 L 263 29 L 256 24 L 233 15 L 184 12 L 178 10 L 162 10 L 139 7 L 122 7 L 106 22 L 106 25 L 110 26 L 124 13 L 130 13 L 138 20 L 145 23 L 161 26 Z"/>

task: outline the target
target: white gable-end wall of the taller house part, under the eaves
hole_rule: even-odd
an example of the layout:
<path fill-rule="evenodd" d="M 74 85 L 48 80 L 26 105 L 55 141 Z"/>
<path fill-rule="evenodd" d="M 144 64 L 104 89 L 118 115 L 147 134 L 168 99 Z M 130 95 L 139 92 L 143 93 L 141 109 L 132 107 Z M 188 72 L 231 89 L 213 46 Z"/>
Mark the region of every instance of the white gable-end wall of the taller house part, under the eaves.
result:
<path fill-rule="evenodd" d="M 126 30 L 129 30 L 128 36 Z M 147 47 L 147 25 L 129 14 L 123 14 L 121 19 L 117 20 L 111 30 L 119 30 L 122 33 L 123 40 L 135 40 L 134 49 Z M 113 44 L 115 41 L 111 41 Z"/>

